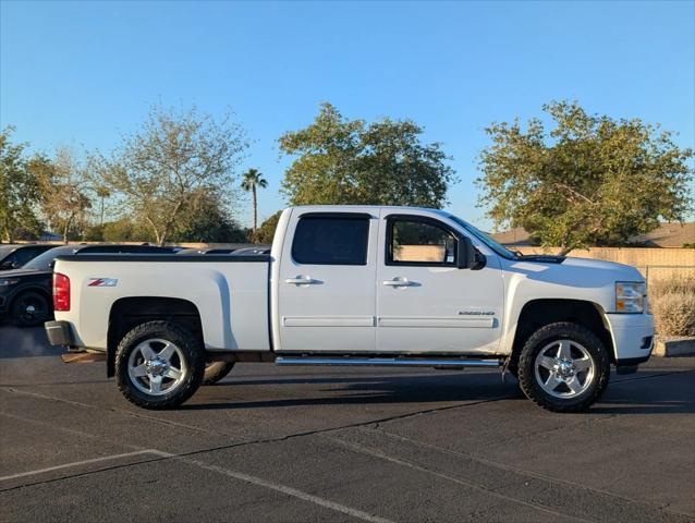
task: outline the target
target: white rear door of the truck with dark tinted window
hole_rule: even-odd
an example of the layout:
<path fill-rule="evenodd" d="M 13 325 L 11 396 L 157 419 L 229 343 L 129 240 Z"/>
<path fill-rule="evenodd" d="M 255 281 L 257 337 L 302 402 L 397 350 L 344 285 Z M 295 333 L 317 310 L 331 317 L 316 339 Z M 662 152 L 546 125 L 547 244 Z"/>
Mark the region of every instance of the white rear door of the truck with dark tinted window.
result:
<path fill-rule="evenodd" d="M 378 216 L 290 218 L 278 281 L 278 351 L 374 352 Z"/>

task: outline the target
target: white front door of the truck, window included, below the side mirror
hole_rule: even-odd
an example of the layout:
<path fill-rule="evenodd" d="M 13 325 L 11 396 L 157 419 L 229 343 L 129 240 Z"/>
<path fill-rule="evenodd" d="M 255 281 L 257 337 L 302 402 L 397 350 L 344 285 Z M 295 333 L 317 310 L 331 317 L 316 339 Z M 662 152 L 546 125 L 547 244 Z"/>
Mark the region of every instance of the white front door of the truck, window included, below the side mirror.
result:
<path fill-rule="evenodd" d="M 485 354 L 498 349 L 503 287 L 491 254 L 456 268 L 453 224 L 385 211 L 377 269 L 377 350 Z"/>

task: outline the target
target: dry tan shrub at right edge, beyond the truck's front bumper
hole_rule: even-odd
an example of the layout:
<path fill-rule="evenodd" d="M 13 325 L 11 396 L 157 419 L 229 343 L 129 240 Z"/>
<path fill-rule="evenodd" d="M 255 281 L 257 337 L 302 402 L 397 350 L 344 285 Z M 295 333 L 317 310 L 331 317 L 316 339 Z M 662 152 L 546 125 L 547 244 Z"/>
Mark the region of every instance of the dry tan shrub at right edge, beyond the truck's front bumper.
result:
<path fill-rule="evenodd" d="M 695 336 L 695 276 L 655 281 L 649 301 L 659 336 Z"/>

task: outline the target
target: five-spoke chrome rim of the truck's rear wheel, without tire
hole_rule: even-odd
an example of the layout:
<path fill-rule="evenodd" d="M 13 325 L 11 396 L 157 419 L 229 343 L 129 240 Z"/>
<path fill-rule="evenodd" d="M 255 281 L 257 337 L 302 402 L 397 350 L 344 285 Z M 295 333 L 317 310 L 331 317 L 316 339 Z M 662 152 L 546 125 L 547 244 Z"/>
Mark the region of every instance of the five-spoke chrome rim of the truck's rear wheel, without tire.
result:
<path fill-rule="evenodd" d="M 132 384 L 150 396 L 173 392 L 181 386 L 186 373 L 181 349 L 159 338 L 139 343 L 127 360 L 127 375 Z"/>

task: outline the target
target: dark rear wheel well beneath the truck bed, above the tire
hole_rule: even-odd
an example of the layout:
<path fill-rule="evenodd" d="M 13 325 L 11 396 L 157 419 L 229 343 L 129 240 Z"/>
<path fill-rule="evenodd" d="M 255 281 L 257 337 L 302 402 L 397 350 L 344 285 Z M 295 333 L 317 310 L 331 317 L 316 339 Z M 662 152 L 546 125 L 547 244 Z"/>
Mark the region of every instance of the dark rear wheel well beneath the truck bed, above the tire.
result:
<path fill-rule="evenodd" d="M 107 335 L 107 376 L 115 368 L 115 350 L 123 337 L 137 325 L 156 319 L 174 321 L 185 327 L 203 343 L 203 325 L 198 308 L 187 300 L 176 297 L 123 297 L 117 300 L 109 314 Z"/>

